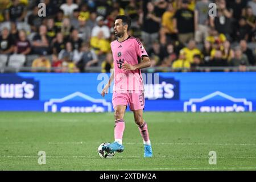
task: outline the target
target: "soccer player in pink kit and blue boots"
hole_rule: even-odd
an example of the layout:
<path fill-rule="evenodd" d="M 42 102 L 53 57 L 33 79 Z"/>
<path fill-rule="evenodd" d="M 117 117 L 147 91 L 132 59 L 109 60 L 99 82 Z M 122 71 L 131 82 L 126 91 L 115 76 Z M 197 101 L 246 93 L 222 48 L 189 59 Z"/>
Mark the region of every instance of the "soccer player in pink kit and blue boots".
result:
<path fill-rule="evenodd" d="M 127 34 L 131 25 L 131 19 L 125 15 L 117 16 L 114 24 L 114 34 L 117 40 L 111 43 L 114 59 L 114 73 L 110 76 L 101 95 L 108 93 L 111 82 L 114 79 L 112 104 L 115 110 L 115 142 L 102 147 L 107 152 L 122 152 L 123 131 L 125 120 L 123 116 L 127 105 L 133 111 L 135 123 L 143 138 L 144 157 L 152 157 L 152 147 L 148 137 L 147 123 L 143 119 L 144 87 L 141 69 L 150 67 L 150 59 L 142 43 Z"/>

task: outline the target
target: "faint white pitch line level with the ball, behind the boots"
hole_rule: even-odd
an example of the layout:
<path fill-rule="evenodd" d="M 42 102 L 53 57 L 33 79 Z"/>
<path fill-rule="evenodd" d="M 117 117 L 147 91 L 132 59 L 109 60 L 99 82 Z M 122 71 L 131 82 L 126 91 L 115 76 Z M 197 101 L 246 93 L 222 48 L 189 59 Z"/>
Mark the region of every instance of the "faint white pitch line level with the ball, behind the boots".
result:
<path fill-rule="evenodd" d="M 0 144 L 91 144 L 96 142 L 0 142 Z M 98 144 L 98 143 L 97 143 Z M 123 144 L 139 144 L 142 143 L 133 143 L 126 142 Z M 154 143 L 154 145 L 217 145 L 217 146 L 256 146 L 256 143 Z"/>

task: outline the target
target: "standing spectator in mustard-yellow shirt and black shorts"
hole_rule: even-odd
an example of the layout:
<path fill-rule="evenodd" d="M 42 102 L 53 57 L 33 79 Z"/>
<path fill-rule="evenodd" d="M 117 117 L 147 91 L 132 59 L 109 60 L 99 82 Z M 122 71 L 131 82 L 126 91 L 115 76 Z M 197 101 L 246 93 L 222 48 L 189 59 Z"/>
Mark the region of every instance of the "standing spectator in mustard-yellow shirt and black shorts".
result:
<path fill-rule="evenodd" d="M 162 16 L 162 27 L 160 28 L 160 43 L 166 45 L 172 40 L 177 40 L 177 34 L 174 31 L 173 18 L 175 9 L 172 3 L 168 3 L 167 11 Z"/>

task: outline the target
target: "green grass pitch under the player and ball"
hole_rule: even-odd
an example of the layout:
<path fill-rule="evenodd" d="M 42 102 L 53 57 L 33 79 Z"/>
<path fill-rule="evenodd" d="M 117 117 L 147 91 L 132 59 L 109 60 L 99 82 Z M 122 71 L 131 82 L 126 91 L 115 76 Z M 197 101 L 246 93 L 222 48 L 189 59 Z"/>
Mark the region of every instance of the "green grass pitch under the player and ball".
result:
<path fill-rule="evenodd" d="M 125 114 L 125 151 L 101 159 L 113 142 L 113 113 L 0 113 L 0 170 L 255 170 L 255 113 L 144 113 L 154 157 L 143 158 L 133 113 Z M 46 152 L 46 165 L 38 164 Z M 217 152 L 210 165 L 209 151 Z"/>

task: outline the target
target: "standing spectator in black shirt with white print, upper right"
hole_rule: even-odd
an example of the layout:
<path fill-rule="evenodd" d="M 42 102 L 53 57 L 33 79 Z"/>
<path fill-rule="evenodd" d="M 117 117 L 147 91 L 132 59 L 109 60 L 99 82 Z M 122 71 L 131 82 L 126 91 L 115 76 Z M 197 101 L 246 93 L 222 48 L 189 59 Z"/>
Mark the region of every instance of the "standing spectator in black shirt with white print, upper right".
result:
<path fill-rule="evenodd" d="M 230 39 L 232 33 L 232 11 L 226 8 L 225 0 L 217 1 L 217 16 L 210 16 L 210 26 Z"/>

